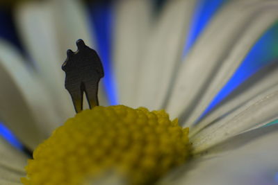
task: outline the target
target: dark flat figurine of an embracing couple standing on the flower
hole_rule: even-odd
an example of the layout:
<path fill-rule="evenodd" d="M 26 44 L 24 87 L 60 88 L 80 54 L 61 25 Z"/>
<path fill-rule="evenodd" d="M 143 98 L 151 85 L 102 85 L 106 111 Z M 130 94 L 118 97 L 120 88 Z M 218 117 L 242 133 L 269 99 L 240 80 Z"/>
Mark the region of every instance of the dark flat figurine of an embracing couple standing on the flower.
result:
<path fill-rule="evenodd" d="M 104 69 L 97 52 L 85 45 L 82 39 L 76 41 L 77 51 L 67 50 L 67 59 L 62 69 L 65 71 L 65 89 L 69 91 L 76 113 L 83 109 L 85 92 L 89 107 L 99 105 L 97 91 L 99 80 L 104 77 Z"/>

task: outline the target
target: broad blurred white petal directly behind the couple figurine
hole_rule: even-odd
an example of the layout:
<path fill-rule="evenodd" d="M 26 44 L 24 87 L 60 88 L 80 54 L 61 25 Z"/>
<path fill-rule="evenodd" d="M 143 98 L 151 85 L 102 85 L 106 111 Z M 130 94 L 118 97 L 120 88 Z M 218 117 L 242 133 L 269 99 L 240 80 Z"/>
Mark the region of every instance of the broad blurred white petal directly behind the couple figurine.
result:
<path fill-rule="evenodd" d="M 28 1 L 17 6 L 15 17 L 26 50 L 47 83 L 55 107 L 65 121 L 74 115 L 72 100 L 64 87 L 65 74 L 61 70 L 66 51 L 76 49 L 77 39 L 83 39 L 95 48 L 81 1 Z M 100 95 L 99 101 L 106 102 L 104 93 Z"/>

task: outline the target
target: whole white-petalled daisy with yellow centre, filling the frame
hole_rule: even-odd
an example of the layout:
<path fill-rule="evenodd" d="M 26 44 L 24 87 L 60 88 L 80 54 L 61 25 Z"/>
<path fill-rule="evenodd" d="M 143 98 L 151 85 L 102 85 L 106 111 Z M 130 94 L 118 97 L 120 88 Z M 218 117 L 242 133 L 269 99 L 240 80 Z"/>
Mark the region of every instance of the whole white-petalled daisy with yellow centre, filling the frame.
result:
<path fill-rule="evenodd" d="M 197 37 L 199 2 L 121 0 L 90 12 L 74 0 L 17 4 L 25 55 L 0 40 L 0 115 L 38 147 L 24 184 L 277 184 L 278 1 L 226 1 Z M 104 62 L 100 104 L 122 105 L 74 116 L 60 67 L 79 38 Z M 0 145 L 0 184 L 20 184 L 28 156 Z"/>

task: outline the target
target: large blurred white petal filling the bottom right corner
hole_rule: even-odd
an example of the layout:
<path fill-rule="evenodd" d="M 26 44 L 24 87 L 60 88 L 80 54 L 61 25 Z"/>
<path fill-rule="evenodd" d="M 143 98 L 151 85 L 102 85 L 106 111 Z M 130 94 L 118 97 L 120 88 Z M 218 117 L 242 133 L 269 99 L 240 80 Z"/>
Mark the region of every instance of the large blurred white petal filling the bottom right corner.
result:
<path fill-rule="evenodd" d="M 222 143 L 233 150 L 226 147 L 218 155 L 193 159 L 183 173 L 164 184 L 277 184 L 277 139 L 278 125 L 244 133 Z"/>

